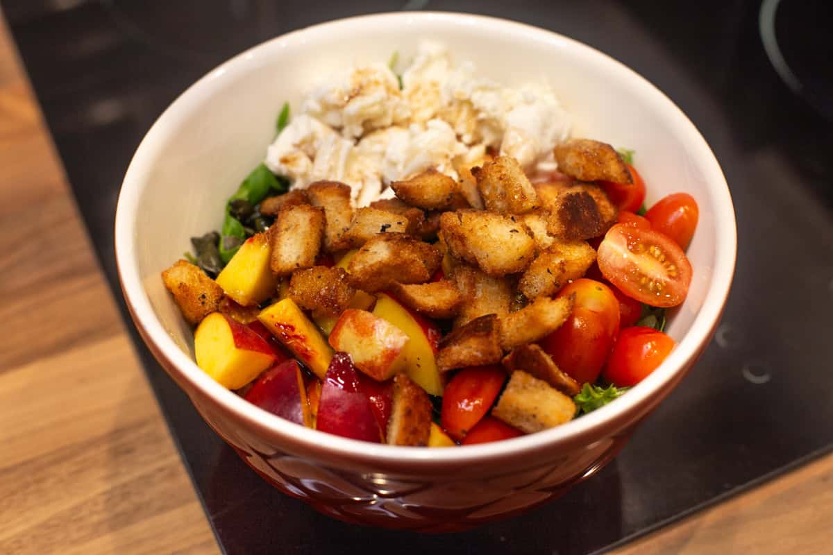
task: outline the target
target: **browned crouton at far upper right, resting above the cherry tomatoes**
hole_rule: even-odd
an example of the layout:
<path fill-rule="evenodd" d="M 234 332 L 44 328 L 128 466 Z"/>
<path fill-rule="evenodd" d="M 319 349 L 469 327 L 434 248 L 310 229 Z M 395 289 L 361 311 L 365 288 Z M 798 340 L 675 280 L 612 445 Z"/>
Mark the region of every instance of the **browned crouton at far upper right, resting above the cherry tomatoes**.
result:
<path fill-rule="evenodd" d="M 619 153 L 605 142 L 572 139 L 556 146 L 558 171 L 580 181 L 633 183 L 633 176 Z"/>

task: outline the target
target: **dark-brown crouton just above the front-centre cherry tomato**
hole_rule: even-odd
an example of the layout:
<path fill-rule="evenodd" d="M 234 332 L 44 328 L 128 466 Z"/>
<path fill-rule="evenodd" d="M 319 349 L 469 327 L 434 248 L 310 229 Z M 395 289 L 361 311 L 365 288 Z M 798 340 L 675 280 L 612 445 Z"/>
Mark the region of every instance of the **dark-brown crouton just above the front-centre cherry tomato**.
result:
<path fill-rule="evenodd" d="M 503 357 L 501 323 L 497 315 L 485 315 L 440 339 L 436 367 L 441 372 L 466 366 L 496 364 Z"/>

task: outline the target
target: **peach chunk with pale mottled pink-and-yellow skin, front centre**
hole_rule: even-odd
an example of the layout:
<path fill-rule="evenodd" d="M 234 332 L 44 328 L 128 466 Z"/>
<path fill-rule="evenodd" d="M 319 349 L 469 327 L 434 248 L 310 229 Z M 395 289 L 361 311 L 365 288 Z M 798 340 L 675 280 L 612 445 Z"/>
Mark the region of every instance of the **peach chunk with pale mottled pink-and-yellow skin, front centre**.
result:
<path fill-rule="evenodd" d="M 345 310 L 330 333 L 333 349 L 350 354 L 357 369 L 380 382 L 404 367 L 408 341 L 404 331 L 367 310 Z"/>

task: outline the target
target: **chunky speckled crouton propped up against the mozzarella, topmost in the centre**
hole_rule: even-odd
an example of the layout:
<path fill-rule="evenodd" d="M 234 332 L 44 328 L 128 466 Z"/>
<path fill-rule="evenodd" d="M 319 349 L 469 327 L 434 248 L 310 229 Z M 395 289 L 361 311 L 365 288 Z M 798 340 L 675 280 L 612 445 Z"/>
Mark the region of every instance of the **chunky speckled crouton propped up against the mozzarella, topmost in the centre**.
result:
<path fill-rule="evenodd" d="M 471 171 L 486 210 L 523 214 L 538 206 L 538 196 L 521 165 L 511 156 L 497 156 Z"/>

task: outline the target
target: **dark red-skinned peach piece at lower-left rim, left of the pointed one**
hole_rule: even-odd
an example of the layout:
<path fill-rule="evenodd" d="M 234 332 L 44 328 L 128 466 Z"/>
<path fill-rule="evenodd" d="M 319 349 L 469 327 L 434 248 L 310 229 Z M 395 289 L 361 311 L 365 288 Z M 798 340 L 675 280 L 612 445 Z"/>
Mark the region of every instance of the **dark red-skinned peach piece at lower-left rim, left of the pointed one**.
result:
<path fill-rule="evenodd" d="M 301 366 L 297 360 L 286 360 L 261 374 L 246 394 L 249 403 L 295 424 L 304 422 L 307 403 Z"/>

